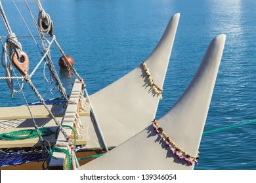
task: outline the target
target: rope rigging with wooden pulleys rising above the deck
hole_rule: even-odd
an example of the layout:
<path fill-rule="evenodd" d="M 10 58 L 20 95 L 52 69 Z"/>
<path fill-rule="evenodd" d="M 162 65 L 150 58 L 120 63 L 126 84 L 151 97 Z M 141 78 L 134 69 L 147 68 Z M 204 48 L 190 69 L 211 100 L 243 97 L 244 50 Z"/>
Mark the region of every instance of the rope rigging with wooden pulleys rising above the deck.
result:
<path fill-rule="evenodd" d="M 6 75 L 5 75 L 5 77 L 0 77 L 0 79 L 5 79 L 7 81 L 7 86 L 9 86 L 9 88 L 12 91 L 11 95 L 13 95 L 13 93 L 16 93 L 16 92 L 22 92 L 22 89 L 23 89 L 23 86 L 24 86 L 24 81 L 26 81 L 26 83 L 30 86 L 30 88 L 32 88 L 35 95 L 37 95 L 37 98 L 39 99 L 39 101 L 47 109 L 51 118 L 53 118 L 55 124 L 57 125 L 58 129 L 64 135 L 66 141 L 68 141 L 68 146 L 69 146 L 70 151 L 71 151 L 73 167 L 74 168 L 79 167 L 79 163 L 77 161 L 77 158 L 75 157 L 75 145 L 74 145 L 75 143 L 73 142 L 71 137 L 69 137 L 66 134 L 66 132 L 64 131 L 63 126 L 61 125 L 61 123 L 58 122 L 58 120 L 56 120 L 56 118 L 54 117 L 51 110 L 47 107 L 47 105 L 45 103 L 45 100 L 43 99 L 41 94 L 37 91 L 35 86 L 33 85 L 31 78 L 33 76 L 33 73 L 35 73 L 35 71 L 37 70 L 37 68 L 41 64 L 41 62 L 45 61 L 45 65 L 44 65 L 44 69 L 43 69 L 43 75 L 44 75 L 45 80 L 49 81 L 50 84 L 55 82 L 54 88 L 56 87 L 58 92 L 61 93 L 62 97 L 66 98 L 66 103 L 69 103 L 69 99 L 68 99 L 68 95 L 66 94 L 66 90 L 62 86 L 62 83 L 60 82 L 60 78 L 58 77 L 58 74 L 57 74 L 56 69 L 55 69 L 54 64 L 53 64 L 53 61 L 51 59 L 51 50 L 50 50 L 50 48 L 51 48 L 51 45 L 52 45 L 53 42 L 56 45 L 56 48 L 58 49 L 58 52 L 60 53 L 60 58 L 62 58 L 62 61 L 65 65 L 66 69 L 68 70 L 68 73 L 70 75 L 70 80 L 72 78 L 71 75 L 75 75 L 79 79 L 79 81 L 82 82 L 83 88 L 85 88 L 85 83 L 83 82 L 83 78 L 81 78 L 81 76 L 79 76 L 79 74 L 75 70 L 73 64 L 70 63 L 70 60 L 68 59 L 67 55 L 64 53 L 60 44 L 56 40 L 56 37 L 53 33 L 53 21 L 51 20 L 50 15 L 47 14 L 45 12 L 45 10 L 43 9 L 40 1 L 35 0 L 35 3 L 37 4 L 37 7 L 39 8 L 39 14 L 38 14 L 37 21 L 33 17 L 32 11 L 30 10 L 30 6 L 28 5 L 26 0 L 24 0 L 24 3 L 26 4 L 26 6 L 28 8 L 28 10 L 29 10 L 29 12 L 32 16 L 33 22 L 35 24 L 35 27 L 37 28 L 37 31 L 39 33 L 39 37 L 41 39 L 41 45 L 43 46 L 43 51 L 39 47 L 39 44 L 37 44 L 37 41 L 35 40 L 35 37 L 32 34 L 32 31 L 30 31 L 30 28 L 28 27 L 28 24 L 26 24 L 26 21 L 24 20 L 22 14 L 20 13 L 20 10 L 16 6 L 16 3 L 14 2 L 14 0 L 12 0 L 12 2 L 14 3 L 14 5 L 15 5 L 16 9 L 18 10 L 20 16 L 22 17 L 22 20 L 23 20 L 24 24 L 26 25 L 28 31 L 32 35 L 32 38 L 33 38 L 37 48 L 39 49 L 39 52 L 41 53 L 42 58 L 39 61 L 39 63 L 37 64 L 37 66 L 35 67 L 35 69 L 33 69 L 32 73 L 29 75 L 29 73 L 28 73 L 28 67 L 29 67 L 28 56 L 26 56 L 26 53 L 22 51 L 22 44 L 20 42 L 18 42 L 18 39 L 17 39 L 16 35 L 14 33 L 12 33 L 11 26 L 9 25 L 7 17 L 5 16 L 5 12 L 3 11 L 3 7 L 2 7 L 1 1 L 0 1 L 1 16 L 3 18 L 3 22 L 5 24 L 7 32 L 9 33 L 5 43 L 2 42 L 3 48 L 2 48 L 1 64 L 5 68 Z M 45 37 L 45 34 L 49 34 L 51 36 L 51 42 L 47 40 L 47 37 Z M 49 69 L 49 75 L 50 75 L 49 80 L 47 80 L 47 77 L 45 76 L 46 66 Z M 20 72 L 21 76 L 16 76 L 16 74 L 14 73 L 14 67 Z M 13 80 L 14 79 L 17 80 L 18 86 L 20 86 L 19 90 L 14 90 L 13 89 Z M 20 79 L 20 82 L 18 81 L 18 79 Z M 87 93 L 86 89 L 84 89 L 84 90 L 85 90 L 85 93 Z M 24 97 L 24 100 L 26 101 L 26 97 L 25 97 L 23 92 L 22 92 L 22 95 Z M 86 94 L 86 95 L 88 97 L 88 94 Z M 26 105 L 28 107 L 27 101 L 26 101 Z M 32 119 L 33 119 L 33 115 L 31 113 L 31 111 L 30 111 L 30 114 L 31 114 Z M 42 150 L 43 150 L 43 154 L 44 154 L 43 159 L 47 159 L 47 158 L 49 158 L 49 155 L 51 154 L 51 146 L 49 145 L 49 142 L 43 140 L 43 137 L 42 137 L 43 135 L 41 134 L 41 131 L 40 131 L 39 127 L 37 127 L 34 120 L 33 120 L 33 122 L 34 122 L 34 126 L 35 126 L 35 129 L 34 129 L 33 133 L 37 133 L 37 136 L 39 137 L 39 140 L 42 144 Z M 43 160 L 43 161 L 45 162 L 45 160 Z"/>

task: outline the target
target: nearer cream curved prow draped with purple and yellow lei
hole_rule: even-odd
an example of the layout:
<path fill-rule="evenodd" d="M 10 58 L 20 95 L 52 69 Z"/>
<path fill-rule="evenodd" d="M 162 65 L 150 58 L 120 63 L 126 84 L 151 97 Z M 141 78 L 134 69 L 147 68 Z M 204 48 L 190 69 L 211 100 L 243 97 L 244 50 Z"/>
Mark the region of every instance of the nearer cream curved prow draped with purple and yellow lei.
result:
<path fill-rule="evenodd" d="M 158 120 L 158 127 L 165 132 L 156 132 L 154 125 L 117 146 L 81 169 L 194 169 L 193 160 L 198 154 L 203 127 L 215 86 L 226 36 L 219 35 L 211 41 L 202 63 L 190 85 L 179 101 Z M 158 128 L 158 131 L 161 131 Z M 167 137 L 175 143 L 166 145 Z M 189 154 L 182 156 L 181 151 Z M 177 154 L 179 156 L 177 156 Z M 176 155 L 175 155 L 176 154 Z"/>

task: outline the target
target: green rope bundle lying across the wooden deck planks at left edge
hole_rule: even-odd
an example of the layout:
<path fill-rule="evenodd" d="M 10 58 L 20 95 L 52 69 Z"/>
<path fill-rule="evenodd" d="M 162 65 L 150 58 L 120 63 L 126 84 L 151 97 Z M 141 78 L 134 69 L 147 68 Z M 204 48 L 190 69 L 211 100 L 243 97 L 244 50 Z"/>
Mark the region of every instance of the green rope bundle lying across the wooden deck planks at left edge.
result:
<path fill-rule="evenodd" d="M 41 127 L 39 128 L 39 132 L 42 136 L 49 136 L 53 134 L 53 131 L 49 127 Z M 0 140 L 5 141 L 17 141 L 23 139 L 33 139 L 37 138 L 37 129 L 22 129 L 19 131 L 12 131 L 9 133 L 1 133 Z"/>

